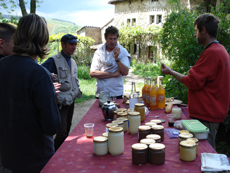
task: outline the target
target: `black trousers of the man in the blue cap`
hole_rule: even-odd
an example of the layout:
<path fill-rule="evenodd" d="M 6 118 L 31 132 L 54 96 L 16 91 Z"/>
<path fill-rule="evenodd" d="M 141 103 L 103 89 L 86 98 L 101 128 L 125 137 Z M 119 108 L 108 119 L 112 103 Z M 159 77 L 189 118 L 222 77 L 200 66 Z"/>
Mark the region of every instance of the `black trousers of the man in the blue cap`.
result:
<path fill-rule="evenodd" d="M 60 105 L 58 106 L 60 107 Z M 65 139 L 69 135 L 69 131 L 73 119 L 74 102 L 70 106 L 61 106 L 59 112 L 61 116 L 61 125 L 54 139 L 55 151 L 57 151 L 57 149 L 61 146 L 61 144 L 65 141 Z"/>

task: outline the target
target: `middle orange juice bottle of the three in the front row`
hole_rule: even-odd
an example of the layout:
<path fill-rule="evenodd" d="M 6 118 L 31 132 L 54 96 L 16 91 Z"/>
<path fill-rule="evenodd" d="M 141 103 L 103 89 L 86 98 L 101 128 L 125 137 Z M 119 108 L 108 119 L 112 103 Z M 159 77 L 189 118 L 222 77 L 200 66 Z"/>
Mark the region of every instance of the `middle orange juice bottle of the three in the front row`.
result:
<path fill-rule="evenodd" d="M 153 78 L 153 85 L 150 91 L 150 109 L 158 109 L 158 87 L 157 87 L 157 78 Z"/>

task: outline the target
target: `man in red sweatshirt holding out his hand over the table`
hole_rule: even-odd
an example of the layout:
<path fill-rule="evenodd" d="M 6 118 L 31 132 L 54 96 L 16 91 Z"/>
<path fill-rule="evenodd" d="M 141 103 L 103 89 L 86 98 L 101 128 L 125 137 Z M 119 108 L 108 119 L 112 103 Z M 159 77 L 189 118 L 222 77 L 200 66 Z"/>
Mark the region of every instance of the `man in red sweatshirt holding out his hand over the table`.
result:
<path fill-rule="evenodd" d="M 207 140 L 214 149 L 216 133 L 227 116 L 230 98 L 230 59 L 224 46 L 217 41 L 219 22 L 211 14 L 202 14 L 195 20 L 194 36 L 205 50 L 187 76 L 164 63 L 161 65 L 163 74 L 172 75 L 188 87 L 190 117 L 209 128 Z"/>

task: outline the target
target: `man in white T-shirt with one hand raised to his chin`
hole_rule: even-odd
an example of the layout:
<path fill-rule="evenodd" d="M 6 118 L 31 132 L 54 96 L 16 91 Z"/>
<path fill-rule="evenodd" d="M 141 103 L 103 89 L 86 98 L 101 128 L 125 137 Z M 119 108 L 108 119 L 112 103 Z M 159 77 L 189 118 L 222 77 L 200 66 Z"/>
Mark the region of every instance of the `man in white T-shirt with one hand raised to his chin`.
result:
<path fill-rule="evenodd" d="M 127 50 L 117 43 L 119 31 L 110 26 L 105 31 L 106 43 L 93 56 L 90 76 L 97 79 L 96 98 L 101 91 L 122 99 L 123 77 L 129 73 L 131 57 Z"/>

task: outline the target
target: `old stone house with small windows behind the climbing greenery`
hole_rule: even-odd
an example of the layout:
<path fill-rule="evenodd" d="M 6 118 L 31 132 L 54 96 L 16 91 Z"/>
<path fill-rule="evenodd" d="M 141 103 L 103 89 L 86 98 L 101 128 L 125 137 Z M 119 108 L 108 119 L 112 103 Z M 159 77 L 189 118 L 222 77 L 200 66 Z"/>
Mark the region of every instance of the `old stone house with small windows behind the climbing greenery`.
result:
<path fill-rule="evenodd" d="M 199 5 L 201 0 L 181 0 L 181 5 L 194 9 Z M 204 0 L 206 5 L 204 11 L 208 11 L 208 6 L 211 3 L 210 0 Z M 217 4 L 221 0 L 216 0 Z M 114 18 L 110 20 L 106 25 L 100 28 L 100 39 L 98 38 L 99 29 L 97 28 L 97 34 L 89 34 L 95 31 L 95 27 L 83 27 L 77 31 L 77 34 L 85 33 L 85 36 L 92 36 L 93 39 L 97 39 L 95 46 L 92 49 L 96 50 L 101 43 L 104 43 L 104 32 L 108 26 L 116 26 L 118 29 L 123 25 L 140 25 L 142 27 L 149 27 L 151 25 L 162 26 L 164 17 L 169 4 L 167 0 L 110 0 L 108 2 L 115 6 Z M 91 30 L 91 31 L 89 31 Z M 100 42 L 101 41 L 101 42 Z M 132 58 L 137 58 L 142 62 L 147 60 L 156 62 L 157 56 L 162 57 L 162 52 L 159 44 L 152 45 L 147 43 L 146 46 L 141 47 L 138 43 L 134 43 L 129 50 Z"/>

